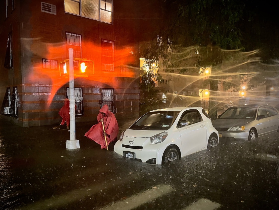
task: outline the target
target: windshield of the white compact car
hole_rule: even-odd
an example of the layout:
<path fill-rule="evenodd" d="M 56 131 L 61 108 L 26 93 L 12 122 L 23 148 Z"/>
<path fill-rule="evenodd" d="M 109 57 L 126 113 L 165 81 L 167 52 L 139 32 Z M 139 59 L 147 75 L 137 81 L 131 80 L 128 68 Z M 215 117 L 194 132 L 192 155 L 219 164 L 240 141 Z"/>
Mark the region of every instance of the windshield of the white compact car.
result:
<path fill-rule="evenodd" d="M 132 130 L 168 130 L 180 111 L 148 112 L 136 121 Z"/>

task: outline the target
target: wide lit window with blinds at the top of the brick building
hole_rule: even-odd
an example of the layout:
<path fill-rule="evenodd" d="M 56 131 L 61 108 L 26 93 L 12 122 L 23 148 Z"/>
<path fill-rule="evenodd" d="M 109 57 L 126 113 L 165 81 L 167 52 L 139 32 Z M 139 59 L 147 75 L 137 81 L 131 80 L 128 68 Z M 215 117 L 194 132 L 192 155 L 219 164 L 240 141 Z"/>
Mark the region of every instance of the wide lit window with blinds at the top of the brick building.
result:
<path fill-rule="evenodd" d="M 64 0 L 65 12 L 112 23 L 112 0 Z"/>

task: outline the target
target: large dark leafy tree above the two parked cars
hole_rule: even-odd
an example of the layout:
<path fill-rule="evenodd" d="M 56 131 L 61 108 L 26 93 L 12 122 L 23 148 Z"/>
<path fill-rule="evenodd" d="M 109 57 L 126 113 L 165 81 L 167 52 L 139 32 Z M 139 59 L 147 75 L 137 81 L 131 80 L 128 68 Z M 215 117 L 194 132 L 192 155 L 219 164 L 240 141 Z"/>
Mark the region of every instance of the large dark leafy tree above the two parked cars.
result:
<path fill-rule="evenodd" d="M 242 53 L 244 48 L 241 45 L 241 27 L 252 21 L 252 13 L 247 8 L 247 5 L 251 5 L 250 2 L 245 0 L 162 0 L 162 2 L 165 8 L 165 27 L 157 31 L 159 36 L 154 36 L 153 41 L 145 45 L 143 55 L 149 59 L 160 60 L 160 67 L 165 72 L 173 72 L 179 68 L 180 73 L 183 73 L 193 71 L 185 64 L 187 57 L 198 50 L 199 56 L 196 57 L 195 65 L 211 66 L 213 69 L 210 79 L 205 81 L 206 84 L 210 84 L 213 98 L 214 92 L 218 89 L 218 80 L 223 80 L 227 88 L 237 88 L 239 82 L 247 78 L 243 65 L 259 61 L 259 58 L 254 57 L 258 52 Z M 229 67 L 230 58 L 233 63 L 230 65 L 235 67 Z M 224 61 L 226 63 L 222 64 Z M 227 73 L 224 74 L 224 71 Z M 231 73 L 237 71 L 239 74 L 235 74 L 232 78 Z M 233 79 L 239 79 L 239 82 Z M 211 119 L 217 118 L 216 103 L 215 100 L 210 102 Z"/>

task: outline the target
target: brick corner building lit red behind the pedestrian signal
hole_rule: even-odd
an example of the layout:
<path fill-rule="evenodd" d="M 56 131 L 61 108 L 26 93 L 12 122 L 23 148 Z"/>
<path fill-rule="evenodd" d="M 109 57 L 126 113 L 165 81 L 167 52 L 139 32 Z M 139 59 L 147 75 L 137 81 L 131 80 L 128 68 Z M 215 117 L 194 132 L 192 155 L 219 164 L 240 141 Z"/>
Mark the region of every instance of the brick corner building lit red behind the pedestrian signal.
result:
<path fill-rule="evenodd" d="M 155 1 L 144 2 L 6 0 L 0 9 L 1 117 L 23 127 L 59 123 L 69 91 L 59 63 L 68 59 L 69 48 L 77 58 L 77 122 L 96 119 L 99 103 L 117 118 L 138 116 L 137 46 L 160 19 L 148 17 Z M 78 59 L 92 60 L 94 74 L 81 74 Z"/>

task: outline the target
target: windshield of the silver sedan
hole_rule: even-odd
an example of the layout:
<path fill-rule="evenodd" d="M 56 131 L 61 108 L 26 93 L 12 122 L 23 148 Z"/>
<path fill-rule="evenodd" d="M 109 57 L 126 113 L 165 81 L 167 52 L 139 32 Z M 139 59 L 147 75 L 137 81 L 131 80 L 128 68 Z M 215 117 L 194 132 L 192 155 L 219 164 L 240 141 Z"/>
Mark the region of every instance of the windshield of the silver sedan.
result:
<path fill-rule="evenodd" d="M 256 107 L 231 107 L 227 109 L 220 119 L 255 119 Z"/>

